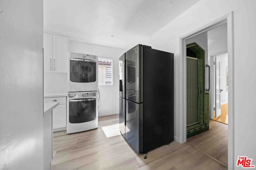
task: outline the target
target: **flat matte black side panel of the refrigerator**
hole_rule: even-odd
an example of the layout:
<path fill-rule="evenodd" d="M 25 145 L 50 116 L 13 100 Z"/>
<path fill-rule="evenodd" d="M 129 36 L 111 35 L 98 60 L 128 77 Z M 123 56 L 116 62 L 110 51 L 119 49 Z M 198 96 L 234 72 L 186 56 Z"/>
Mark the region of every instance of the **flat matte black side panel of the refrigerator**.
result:
<path fill-rule="evenodd" d="M 174 57 L 148 48 L 143 53 L 143 150 L 148 152 L 174 139 Z"/>

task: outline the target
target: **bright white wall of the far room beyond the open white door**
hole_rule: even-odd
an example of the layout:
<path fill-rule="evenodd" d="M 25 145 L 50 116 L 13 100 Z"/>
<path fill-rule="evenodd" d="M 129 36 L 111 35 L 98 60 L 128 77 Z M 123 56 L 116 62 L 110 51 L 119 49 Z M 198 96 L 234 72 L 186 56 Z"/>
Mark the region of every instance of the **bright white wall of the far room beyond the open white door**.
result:
<path fill-rule="evenodd" d="M 217 60 L 220 61 L 220 88 L 223 90 L 220 95 L 220 103 L 228 103 L 228 91 L 226 86 L 226 67 L 228 66 L 228 54 L 218 55 Z"/>

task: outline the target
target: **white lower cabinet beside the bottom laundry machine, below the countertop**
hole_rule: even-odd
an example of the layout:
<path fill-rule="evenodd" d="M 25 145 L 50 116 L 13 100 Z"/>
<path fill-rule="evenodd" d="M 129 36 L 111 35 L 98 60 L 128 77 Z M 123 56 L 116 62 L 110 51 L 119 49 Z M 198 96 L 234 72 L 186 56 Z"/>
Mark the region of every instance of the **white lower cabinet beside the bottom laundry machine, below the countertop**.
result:
<path fill-rule="evenodd" d="M 66 97 L 44 98 L 45 103 L 59 102 L 52 111 L 52 129 L 54 132 L 66 129 Z"/>

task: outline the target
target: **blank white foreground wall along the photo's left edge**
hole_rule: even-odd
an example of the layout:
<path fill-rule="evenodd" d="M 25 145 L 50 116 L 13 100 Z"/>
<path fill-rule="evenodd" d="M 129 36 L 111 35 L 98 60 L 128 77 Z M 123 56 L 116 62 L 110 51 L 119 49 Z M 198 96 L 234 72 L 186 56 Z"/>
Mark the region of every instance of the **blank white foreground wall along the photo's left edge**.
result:
<path fill-rule="evenodd" d="M 0 1 L 0 169 L 43 169 L 43 0 Z"/>

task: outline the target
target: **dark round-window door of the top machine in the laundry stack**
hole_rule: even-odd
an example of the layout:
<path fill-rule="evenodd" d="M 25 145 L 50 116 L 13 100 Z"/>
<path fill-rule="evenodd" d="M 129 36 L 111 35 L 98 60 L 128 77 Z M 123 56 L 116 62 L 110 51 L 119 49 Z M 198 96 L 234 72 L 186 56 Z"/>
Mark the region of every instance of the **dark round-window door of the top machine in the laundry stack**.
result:
<path fill-rule="evenodd" d="M 96 61 L 85 59 L 70 59 L 70 81 L 95 82 Z"/>

